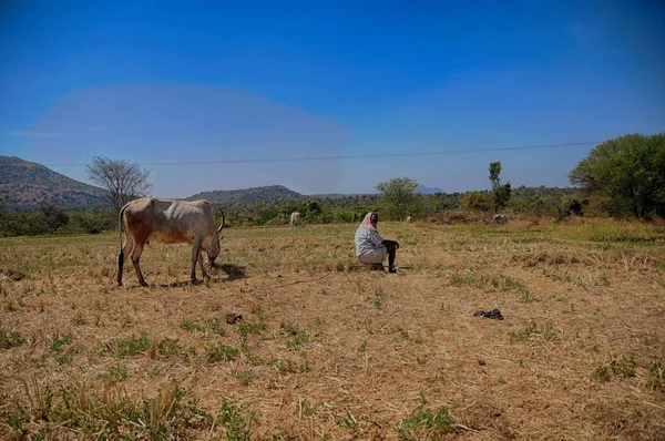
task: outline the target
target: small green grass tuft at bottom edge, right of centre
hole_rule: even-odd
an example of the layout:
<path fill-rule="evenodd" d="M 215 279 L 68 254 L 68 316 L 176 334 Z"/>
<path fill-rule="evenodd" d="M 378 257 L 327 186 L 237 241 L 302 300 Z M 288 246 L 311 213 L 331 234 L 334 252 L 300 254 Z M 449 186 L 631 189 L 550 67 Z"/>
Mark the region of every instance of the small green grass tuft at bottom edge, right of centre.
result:
<path fill-rule="evenodd" d="M 444 406 L 440 406 L 436 412 L 420 407 L 397 424 L 400 441 L 434 440 L 452 431 L 454 431 L 454 419 Z"/>

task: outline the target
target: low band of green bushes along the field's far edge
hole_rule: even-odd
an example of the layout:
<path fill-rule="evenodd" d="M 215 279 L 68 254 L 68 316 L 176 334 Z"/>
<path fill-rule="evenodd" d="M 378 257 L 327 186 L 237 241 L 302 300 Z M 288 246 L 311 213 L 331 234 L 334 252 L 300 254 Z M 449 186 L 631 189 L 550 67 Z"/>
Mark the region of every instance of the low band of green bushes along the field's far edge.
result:
<path fill-rule="evenodd" d="M 360 223 L 369 211 L 378 211 L 385 221 L 403 221 L 412 216 L 422 221 L 440 216 L 444 212 L 464 212 L 474 216 L 489 217 L 494 212 L 490 191 L 468 193 L 438 193 L 423 195 L 407 193 L 407 198 L 396 201 L 390 193 L 392 185 L 413 186 L 415 181 L 398 177 L 388 181 L 387 193 L 321 197 L 308 201 L 280 199 L 269 203 L 213 204 L 226 215 L 226 224 L 237 226 L 287 225 L 293 212 L 300 213 L 305 224 Z M 400 191 L 401 192 L 401 191 Z M 557 207 L 566 197 L 573 197 L 574 188 L 518 187 L 507 206 L 511 213 L 536 213 L 541 216 L 556 216 Z M 393 205 L 393 203 L 396 203 Z M 219 214 L 216 213 L 219 217 Z M 217 218 L 217 222 L 221 219 Z M 0 237 L 38 236 L 48 234 L 98 234 L 117 229 L 117 214 L 109 209 L 64 209 L 58 205 L 44 204 L 32 211 L 10 211 L 0 204 Z"/>

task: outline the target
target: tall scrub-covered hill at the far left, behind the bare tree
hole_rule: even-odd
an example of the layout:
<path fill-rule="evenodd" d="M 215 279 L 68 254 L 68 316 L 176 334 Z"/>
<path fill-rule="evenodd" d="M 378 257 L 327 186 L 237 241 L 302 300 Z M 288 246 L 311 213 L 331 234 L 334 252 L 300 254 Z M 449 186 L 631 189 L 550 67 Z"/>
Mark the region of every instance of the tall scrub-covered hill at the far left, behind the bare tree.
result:
<path fill-rule="evenodd" d="M 33 162 L 0 156 L 0 201 L 8 208 L 55 204 L 65 208 L 103 208 L 103 189 L 83 184 Z"/>

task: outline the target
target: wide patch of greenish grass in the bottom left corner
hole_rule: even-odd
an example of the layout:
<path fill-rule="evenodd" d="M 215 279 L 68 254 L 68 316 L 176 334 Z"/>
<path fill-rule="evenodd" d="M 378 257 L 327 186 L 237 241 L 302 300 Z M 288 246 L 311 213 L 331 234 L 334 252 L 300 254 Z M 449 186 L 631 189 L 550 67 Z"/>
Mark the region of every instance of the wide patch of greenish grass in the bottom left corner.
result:
<path fill-rule="evenodd" d="M 183 401 L 185 391 L 175 383 L 140 399 L 123 389 L 96 392 L 83 384 L 61 384 L 52 391 L 37 380 L 25 383 L 25 393 L 31 406 L 17 401 L 0 409 L 0 422 L 25 439 L 172 440 L 213 422 L 196 400 Z"/>

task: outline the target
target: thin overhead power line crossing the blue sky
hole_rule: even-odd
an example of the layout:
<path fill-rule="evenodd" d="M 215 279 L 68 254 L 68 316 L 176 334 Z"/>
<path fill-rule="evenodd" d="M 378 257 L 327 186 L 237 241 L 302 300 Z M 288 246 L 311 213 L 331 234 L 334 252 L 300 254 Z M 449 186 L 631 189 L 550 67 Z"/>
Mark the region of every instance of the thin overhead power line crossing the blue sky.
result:
<path fill-rule="evenodd" d="M 205 165 L 205 164 L 249 164 L 249 163 L 288 163 L 288 162 L 313 162 L 313 161 L 339 161 L 339 160 L 364 160 L 364 158 L 380 158 L 380 157 L 415 157 L 415 156 L 436 156 L 436 155 L 452 155 L 460 153 L 482 153 L 482 152 L 504 152 L 513 150 L 536 150 L 536 148 L 561 148 L 574 147 L 581 145 L 601 144 L 603 141 L 587 141 L 576 143 L 562 144 L 540 144 L 540 145 L 523 145 L 513 147 L 493 147 L 493 148 L 456 148 L 440 150 L 432 152 L 409 152 L 409 153 L 379 153 L 364 155 L 334 155 L 334 156 L 296 156 L 296 157 L 265 157 L 265 158 L 247 158 L 247 160 L 208 160 L 208 161 L 172 161 L 172 162 L 150 162 L 140 163 L 139 165 L 163 166 L 163 165 Z M 23 164 L 4 164 L 4 165 L 23 165 Z M 45 166 L 82 166 L 81 163 L 54 163 L 42 164 Z"/>

